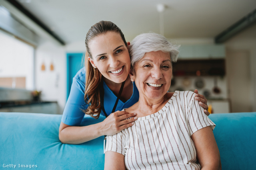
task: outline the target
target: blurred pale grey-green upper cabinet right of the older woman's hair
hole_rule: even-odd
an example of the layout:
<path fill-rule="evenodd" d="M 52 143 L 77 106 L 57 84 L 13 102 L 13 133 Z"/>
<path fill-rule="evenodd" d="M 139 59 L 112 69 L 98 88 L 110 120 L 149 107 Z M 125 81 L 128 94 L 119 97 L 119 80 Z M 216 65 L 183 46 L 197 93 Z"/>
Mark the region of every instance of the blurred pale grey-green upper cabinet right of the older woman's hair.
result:
<path fill-rule="evenodd" d="M 181 45 L 178 59 L 224 59 L 224 45 Z"/>

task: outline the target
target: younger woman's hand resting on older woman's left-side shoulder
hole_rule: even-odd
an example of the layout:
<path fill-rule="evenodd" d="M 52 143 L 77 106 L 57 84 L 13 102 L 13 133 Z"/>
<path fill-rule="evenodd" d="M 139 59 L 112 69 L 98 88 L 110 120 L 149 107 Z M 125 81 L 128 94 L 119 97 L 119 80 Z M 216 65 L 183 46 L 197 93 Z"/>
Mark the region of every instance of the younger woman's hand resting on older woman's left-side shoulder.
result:
<path fill-rule="evenodd" d="M 123 129 L 131 127 L 138 118 L 137 113 L 128 113 L 126 111 L 116 111 L 111 113 L 104 121 L 102 129 L 104 135 L 115 135 Z M 130 119 L 128 119 L 130 118 Z"/>

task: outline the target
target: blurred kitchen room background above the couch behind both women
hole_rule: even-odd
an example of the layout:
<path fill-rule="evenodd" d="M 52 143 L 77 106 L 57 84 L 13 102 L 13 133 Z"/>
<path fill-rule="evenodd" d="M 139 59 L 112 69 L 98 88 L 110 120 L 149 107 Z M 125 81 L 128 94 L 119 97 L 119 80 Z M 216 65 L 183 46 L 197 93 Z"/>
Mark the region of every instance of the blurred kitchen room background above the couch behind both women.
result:
<path fill-rule="evenodd" d="M 62 114 L 94 23 L 180 44 L 170 91 L 212 113 L 256 111 L 255 0 L 0 0 L 0 111 Z"/>

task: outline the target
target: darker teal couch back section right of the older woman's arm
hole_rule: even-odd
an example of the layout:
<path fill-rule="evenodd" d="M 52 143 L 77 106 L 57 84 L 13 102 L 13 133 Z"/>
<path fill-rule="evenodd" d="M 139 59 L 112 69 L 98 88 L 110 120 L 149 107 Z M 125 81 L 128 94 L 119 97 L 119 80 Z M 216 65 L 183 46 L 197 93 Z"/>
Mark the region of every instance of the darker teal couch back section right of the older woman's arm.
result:
<path fill-rule="evenodd" d="M 223 170 L 256 170 L 256 112 L 209 115 Z"/>

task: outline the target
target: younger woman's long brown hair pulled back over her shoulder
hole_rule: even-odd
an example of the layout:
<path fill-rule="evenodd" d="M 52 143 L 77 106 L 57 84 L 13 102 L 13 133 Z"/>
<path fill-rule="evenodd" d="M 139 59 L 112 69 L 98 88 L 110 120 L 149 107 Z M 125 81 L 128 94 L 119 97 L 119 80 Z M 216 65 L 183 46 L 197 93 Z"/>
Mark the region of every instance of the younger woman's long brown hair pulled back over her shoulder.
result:
<path fill-rule="evenodd" d="M 84 109 L 84 113 L 98 119 L 100 116 L 100 82 L 102 80 L 102 74 L 97 68 L 93 68 L 92 64 L 88 60 L 88 57 L 92 59 L 92 54 L 89 49 L 89 43 L 96 36 L 107 33 L 108 31 L 117 32 L 121 35 L 124 44 L 127 46 L 127 42 L 124 38 L 124 34 L 121 29 L 111 21 L 100 21 L 89 29 L 86 34 L 85 45 L 86 45 L 86 55 L 85 55 L 85 68 L 86 68 L 86 83 L 84 92 L 84 101 L 88 104 L 88 108 Z"/>

